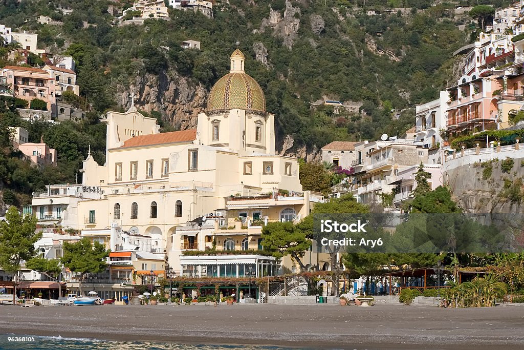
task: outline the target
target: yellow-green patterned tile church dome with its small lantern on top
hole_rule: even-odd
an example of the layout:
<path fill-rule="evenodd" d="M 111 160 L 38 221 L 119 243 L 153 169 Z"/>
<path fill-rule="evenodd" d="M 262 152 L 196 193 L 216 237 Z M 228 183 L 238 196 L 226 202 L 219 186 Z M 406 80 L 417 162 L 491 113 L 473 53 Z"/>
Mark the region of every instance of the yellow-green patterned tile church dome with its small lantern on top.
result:
<path fill-rule="evenodd" d="M 264 92 L 244 72 L 245 56 L 236 49 L 231 55 L 231 71 L 217 81 L 209 94 L 208 110 L 243 109 L 266 111 Z"/>

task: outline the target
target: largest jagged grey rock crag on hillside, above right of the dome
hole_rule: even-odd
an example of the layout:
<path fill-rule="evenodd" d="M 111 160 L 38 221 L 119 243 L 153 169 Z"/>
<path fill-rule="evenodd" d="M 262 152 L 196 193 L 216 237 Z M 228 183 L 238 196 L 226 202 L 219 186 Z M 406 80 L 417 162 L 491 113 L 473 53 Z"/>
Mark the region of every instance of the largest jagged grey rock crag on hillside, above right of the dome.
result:
<path fill-rule="evenodd" d="M 286 9 L 282 17 L 280 12 L 271 9 L 269 18 L 264 18 L 258 29 L 259 33 L 264 33 L 267 27 L 274 28 L 273 35 L 281 37 L 283 44 L 291 49 L 294 40 L 298 36 L 300 28 L 300 8 L 293 7 L 289 0 L 286 0 Z"/>

